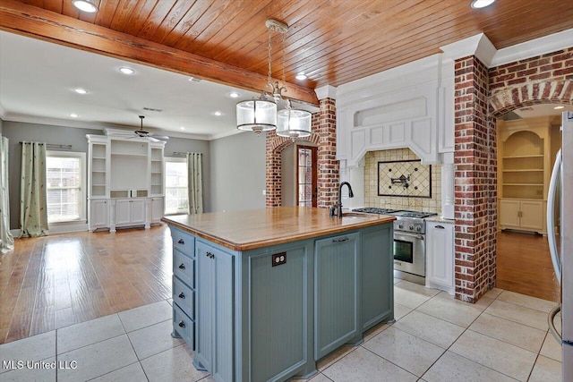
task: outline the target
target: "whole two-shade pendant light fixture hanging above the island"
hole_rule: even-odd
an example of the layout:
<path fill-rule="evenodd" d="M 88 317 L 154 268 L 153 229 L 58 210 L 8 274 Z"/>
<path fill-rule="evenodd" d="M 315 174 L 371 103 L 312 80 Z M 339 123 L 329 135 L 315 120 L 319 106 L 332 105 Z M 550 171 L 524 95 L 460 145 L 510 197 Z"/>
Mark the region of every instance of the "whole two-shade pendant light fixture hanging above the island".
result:
<path fill-rule="evenodd" d="M 311 134 L 311 114 L 305 110 L 292 109 L 290 101 L 286 99 L 286 109 L 280 110 L 277 114 L 277 104 L 283 99 L 282 92 L 286 92 L 285 86 L 285 37 L 288 26 L 280 21 L 267 20 L 265 22 L 269 30 L 269 79 L 267 85 L 271 89 L 270 93 L 262 91 L 259 98 L 242 101 L 236 104 L 237 129 L 256 132 L 267 132 L 277 129 L 277 134 L 296 138 L 307 137 Z M 272 56 L 272 32 L 282 34 L 283 38 L 283 76 L 282 85 L 272 82 L 271 56 Z"/>

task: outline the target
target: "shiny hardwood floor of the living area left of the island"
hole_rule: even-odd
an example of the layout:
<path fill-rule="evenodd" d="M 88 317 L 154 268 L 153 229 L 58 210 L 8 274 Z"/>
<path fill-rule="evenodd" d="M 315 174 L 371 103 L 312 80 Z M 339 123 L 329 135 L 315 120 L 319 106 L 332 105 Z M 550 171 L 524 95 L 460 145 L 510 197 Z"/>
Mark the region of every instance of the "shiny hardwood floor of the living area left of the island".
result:
<path fill-rule="evenodd" d="M 0 258 L 0 344 L 171 298 L 167 225 L 18 239 Z"/>

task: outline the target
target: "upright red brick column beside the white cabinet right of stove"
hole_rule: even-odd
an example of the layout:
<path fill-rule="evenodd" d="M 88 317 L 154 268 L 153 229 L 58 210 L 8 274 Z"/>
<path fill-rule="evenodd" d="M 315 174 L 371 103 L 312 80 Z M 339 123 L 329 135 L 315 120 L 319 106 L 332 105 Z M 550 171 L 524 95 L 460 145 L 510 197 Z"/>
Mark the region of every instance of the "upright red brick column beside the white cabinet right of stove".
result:
<path fill-rule="evenodd" d="M 488 290 L 492 262 L 488 214 L 492 123 L 487 113 L 488 70 L 475 56 L 455 66 L 456 298 L 475 302 Z M 493 146 L 495 147 L 495 146 Z M 493 233 L 494 235 L 495 233 Z"/>

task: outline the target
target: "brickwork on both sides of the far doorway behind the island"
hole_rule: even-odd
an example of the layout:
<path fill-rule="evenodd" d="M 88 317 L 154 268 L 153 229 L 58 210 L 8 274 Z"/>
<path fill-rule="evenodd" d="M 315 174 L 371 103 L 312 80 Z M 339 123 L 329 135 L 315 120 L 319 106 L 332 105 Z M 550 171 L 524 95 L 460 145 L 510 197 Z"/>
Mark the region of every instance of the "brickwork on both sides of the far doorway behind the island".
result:
<path fill-rule="evenodd" d="M 339 166 L 336 159 L 336 106 L 332 98 L 321 99 L 320 111 L 312 115 L 312 134 L 306 140 L 318 146 L 317 187 L 319 208 L 334 204 L 338 197 Z M 275 132 L 267 132 L 266 141 L 266 206 L 281 205 L 280 153 L 293 141 L 279 137 Z"/>

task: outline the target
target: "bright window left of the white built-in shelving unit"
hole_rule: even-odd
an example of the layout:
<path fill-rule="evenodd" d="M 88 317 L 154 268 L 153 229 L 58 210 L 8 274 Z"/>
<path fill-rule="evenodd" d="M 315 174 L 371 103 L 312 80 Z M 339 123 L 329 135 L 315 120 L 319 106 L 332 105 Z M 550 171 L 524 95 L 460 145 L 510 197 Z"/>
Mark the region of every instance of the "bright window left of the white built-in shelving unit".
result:
<path fill-rule="evenodd" d="M 47 151 L 47 222 L 85 218 L 85 153 Z"/>

